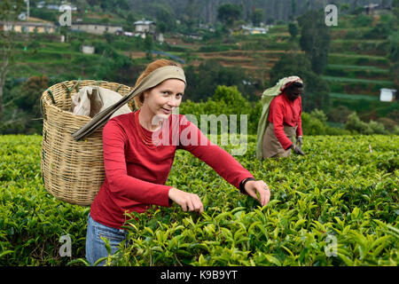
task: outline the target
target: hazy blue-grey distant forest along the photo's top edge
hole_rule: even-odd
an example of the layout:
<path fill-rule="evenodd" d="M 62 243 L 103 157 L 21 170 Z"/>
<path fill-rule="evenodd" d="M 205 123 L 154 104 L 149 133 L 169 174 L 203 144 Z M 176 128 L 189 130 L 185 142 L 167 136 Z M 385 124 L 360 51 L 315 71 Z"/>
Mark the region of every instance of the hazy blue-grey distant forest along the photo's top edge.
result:
<path fill-rule="evenodd" d="M 293 20 L 295 17 L 325 7 L 326 4 L 348 4 L 349 9 L 371 3 L 382 5 L 391 4 L 391 0 L 72 0 L 79 6 L 97 6 L 103 11 L 117 12 L 128 8 L 137 14 L 150 14 L 156 17 L 160 9 L 170 12 L 176 20 L 193 20 L 201 23 L 215 23 L 217 8 L 226 3 L 236 4 L 242 7 L 243 20 L 251 17 L 254 9 L 262 9 L 263 21 Z"/>

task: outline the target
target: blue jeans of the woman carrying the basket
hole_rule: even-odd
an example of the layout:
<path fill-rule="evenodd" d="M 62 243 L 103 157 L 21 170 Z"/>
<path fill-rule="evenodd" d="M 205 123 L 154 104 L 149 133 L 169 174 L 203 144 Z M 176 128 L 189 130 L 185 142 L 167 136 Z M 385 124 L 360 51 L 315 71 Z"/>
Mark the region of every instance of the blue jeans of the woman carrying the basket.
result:
<path fill-rule="evenodd" d="M 109 241 L 111 254 L 113 255 L 118 250 L 121 241 L 125 240 L 126 232 L 125 230 L 108 227 L 94 221 L 89 213 L 86 235 L 86 259 L 91 265 L 95 264 L 99 258 L 108 256 L 106 243 L 101 240 L 100 236 Z M 104 264 L 106 262 L 102 261 L 98 265 Z"/>

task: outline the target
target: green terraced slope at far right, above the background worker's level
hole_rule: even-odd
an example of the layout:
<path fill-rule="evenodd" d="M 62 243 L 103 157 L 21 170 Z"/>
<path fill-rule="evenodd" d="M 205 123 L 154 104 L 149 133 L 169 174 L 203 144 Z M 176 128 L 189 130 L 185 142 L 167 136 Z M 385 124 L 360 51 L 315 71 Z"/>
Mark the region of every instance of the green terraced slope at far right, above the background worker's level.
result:
<path fill-rule="evenodd" d="M 348 106 L 372 119 L 397 108 L 397 102 L 379 101 L 381 88 L 395 89 L 389 73 L 387 37 L 376 32 L 382 21 L 375 17 L 369 26 L 358 27 L 356 20 L 348 18 L 343 20 L 345 28 L 332 29 L 329 64 L 323 76 L 330 84 L 332 106 Z"/>

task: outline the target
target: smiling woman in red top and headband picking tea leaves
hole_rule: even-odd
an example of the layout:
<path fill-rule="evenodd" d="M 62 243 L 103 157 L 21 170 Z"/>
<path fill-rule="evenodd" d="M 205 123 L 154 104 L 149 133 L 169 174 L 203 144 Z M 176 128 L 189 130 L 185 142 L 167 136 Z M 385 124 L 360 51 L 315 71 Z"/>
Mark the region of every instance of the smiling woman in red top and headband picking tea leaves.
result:
<path fill-rule="evenodd" d="M 156 60 L 137 79 L 135 88 L 143 88 L 135 97 L 138 110 L 106 122 L 103 130 L 106 179 L 91 204 L 87 227 L 86 257 L 91 264 L 102 264 L 108 256 L 106 240 L 111 254 L 125 240 L 122 226 L 129 220 L 125 213 L 143 213 L 152 205 L 170 207 L 173 202 L 184 211 L 203 212 L 197 194 L 165 185 L 178 149 L 206 162 L 262 206 L 270 201 L 264 181 L 255 180 L 231 154 L 211 143 L 183 114 L 172 114 L 182 102 L 185 85 L 181 67 L 173 61 Z M 162 135 L 162 143 L 158 143 L 157 138 Z"/>

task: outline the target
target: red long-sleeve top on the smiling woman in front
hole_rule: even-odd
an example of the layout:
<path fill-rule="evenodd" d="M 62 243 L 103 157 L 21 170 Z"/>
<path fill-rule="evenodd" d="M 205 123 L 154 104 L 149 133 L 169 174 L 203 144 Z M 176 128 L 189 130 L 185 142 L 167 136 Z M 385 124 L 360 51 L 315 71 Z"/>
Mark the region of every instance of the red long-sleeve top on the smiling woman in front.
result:
<path fill-rule="evenodd" d="M 138 126 L 147 138 L 158 135 L 139 123 Z M 165 183 L 177 149 L 191 152 L 237 188 L 244 178 L 253 177 L 183 114 L 171 114 L 168 123 L 164 122 L 157 131 L 162 132 L 163 145 L 151 149 L 139 136 L 135 113 L 118 115 L 106 123 L 103 130 L 106 178 L 90 208 L 90 216 L 98 223 L 121 228 L 126 222 L 125 211 L 143 213 L 151 205 L 170 207 L 168 191 L 172 186 Z M 163 133 L 169 137 L 165 138 Z"/>

